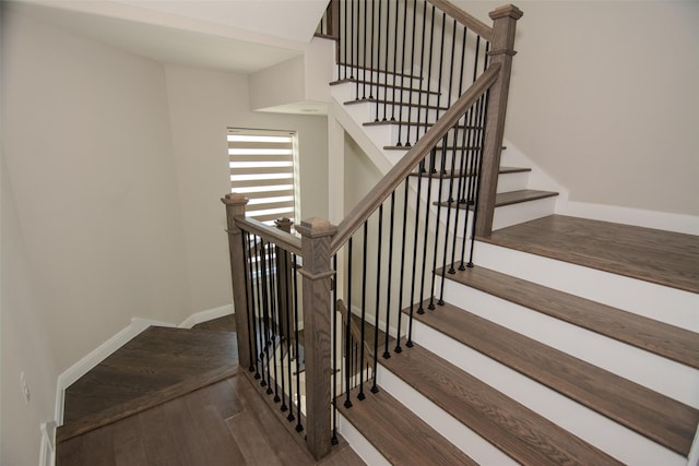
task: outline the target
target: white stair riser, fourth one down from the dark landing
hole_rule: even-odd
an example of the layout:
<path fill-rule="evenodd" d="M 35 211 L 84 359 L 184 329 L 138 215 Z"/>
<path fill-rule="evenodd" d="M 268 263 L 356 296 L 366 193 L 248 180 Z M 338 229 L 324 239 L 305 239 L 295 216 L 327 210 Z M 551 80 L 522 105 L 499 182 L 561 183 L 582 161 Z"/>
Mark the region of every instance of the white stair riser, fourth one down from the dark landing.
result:
<path fill-rule="evenodd" d="M 498 466 L 517 465 L 512 458 L 493 446 L 491 443 L 381 366 L 377 369 L 377 381 L 383 390 L 477 463 Z"/>

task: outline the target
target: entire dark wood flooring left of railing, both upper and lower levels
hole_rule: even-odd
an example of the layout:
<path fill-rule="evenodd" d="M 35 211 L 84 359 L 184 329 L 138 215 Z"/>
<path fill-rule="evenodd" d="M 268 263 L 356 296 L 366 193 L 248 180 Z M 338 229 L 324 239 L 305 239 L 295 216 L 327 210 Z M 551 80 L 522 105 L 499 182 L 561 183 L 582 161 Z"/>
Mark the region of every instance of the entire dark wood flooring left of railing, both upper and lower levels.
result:
<path fill-rule="evenodd" d="M 235 320 L 150 327 L 67 390 L 60 466 L 364 465 L 341 439 L 322 462 L 238 370 Z"/>

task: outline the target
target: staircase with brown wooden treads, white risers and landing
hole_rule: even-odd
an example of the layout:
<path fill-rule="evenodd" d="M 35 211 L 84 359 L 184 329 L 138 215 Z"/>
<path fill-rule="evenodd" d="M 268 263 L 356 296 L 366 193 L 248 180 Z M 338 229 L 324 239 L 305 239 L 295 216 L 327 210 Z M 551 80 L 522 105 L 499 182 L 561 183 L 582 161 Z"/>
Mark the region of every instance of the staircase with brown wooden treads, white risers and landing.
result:
<path fill-rule="evenodd" d="M 335 108 L 345 131 L 366 136 L 356 141 L 377 166 L 377 155 L 398 163 L 454 100 L 419 73 L 340 70 Z M 475 167 L 459 160 L 483 124 L 455 128 L 436 147 L 441 156 L 411 175 L 441 227 L 457 214 L 439 210 L 474 206 L 463 192 Z M 364 398 L 355 389 L 352 407 L 337 399 L 340 431 L 367 463 L 688 464 L 699 423 L 699 241 L 555 216 L 558 193 L 530 186 L 530 171 L 500 166 L 496 231 L 476 241 L 476 266 L 438 271 L 443 303 L 403 310 L 412 335 L 402 328 L 404 349 L 378 358 L 378 392 Z M 453 222 L 460 236 L 473 231 L 467 215 Z M 518 228 L 564 246 L 528 251 L 526 238 L 508 237 Z M 662 260 L 639 265 L 666 244 L 685 247 L 685 258 L 665 252 L 679 273 L 664 275 Z M 577 248 L 587 249 L 573 256 Z M 595 266 L 605 261 L 616 265 Z"/>

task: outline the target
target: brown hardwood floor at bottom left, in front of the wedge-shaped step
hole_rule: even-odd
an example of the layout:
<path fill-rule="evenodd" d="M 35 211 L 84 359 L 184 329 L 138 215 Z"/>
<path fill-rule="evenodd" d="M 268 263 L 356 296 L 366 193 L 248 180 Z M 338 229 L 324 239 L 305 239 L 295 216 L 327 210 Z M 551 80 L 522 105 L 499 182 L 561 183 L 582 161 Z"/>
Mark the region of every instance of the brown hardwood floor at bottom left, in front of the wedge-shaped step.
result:
<path fill-rule="evenodd" d="M 313 461 L 242 373 L 64 441 L 57 456 L 58 466 L 364 465 L 346 443 Z"/>

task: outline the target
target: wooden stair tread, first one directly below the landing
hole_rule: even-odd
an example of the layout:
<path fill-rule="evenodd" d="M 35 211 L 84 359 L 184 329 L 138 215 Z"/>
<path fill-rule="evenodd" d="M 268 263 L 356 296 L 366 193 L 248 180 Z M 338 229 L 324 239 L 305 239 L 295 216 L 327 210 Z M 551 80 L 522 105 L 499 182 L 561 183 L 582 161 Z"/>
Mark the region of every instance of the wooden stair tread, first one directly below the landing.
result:
<path fill-rule="evenodd" d="M 699 369 L 699 334 L 532 282 L 476 266 L 448 278 Z"/>

